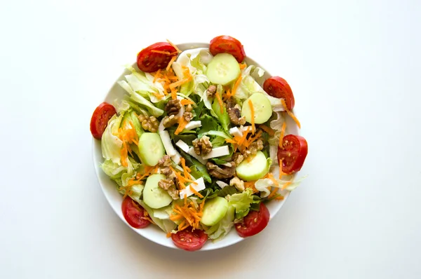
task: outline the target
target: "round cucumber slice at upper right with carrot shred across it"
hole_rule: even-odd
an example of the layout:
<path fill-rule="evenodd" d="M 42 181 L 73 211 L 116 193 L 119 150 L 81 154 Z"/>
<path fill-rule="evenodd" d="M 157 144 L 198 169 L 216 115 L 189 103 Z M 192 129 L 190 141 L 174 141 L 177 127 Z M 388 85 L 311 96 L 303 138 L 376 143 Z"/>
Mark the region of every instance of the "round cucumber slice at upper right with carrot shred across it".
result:
<path fill-rule="evenodd" d="M 262 93 L 254 93 L 246 101 L 243 102 L 243 109 L 241 109 L 241 116 L 246 117 L 246 121 L 251 123 L 251 109 L 248 100 L 253 104 L 254 121 L 256 124 L 262 124 L 269 120 L 272 116 L 272 106 L 269 99 Z"/>

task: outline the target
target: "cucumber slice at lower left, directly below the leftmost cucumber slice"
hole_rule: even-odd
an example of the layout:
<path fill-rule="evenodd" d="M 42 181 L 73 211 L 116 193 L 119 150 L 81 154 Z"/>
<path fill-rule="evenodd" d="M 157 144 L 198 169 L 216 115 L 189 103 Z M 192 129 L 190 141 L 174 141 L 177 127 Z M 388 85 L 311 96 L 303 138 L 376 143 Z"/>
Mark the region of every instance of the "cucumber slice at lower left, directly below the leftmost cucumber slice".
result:
<path fill-rule="evenodd" d="M 151 175 L 147 177 L 145 189 L 143 189 L 143 201 L 151 208 L 161 208 L 169 205 L 173 198 L 158 186 L 161 179 L 166 179 L 165 175 Z"/>

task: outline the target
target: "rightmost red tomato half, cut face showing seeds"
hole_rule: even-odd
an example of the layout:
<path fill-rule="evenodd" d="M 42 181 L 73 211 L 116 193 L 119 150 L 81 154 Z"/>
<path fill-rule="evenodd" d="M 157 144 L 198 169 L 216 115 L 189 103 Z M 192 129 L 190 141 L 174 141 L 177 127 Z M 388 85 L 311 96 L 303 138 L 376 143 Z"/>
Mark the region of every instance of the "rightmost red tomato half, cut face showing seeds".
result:
<path fill-rule="evenodd" d="M 283 137 L 282 147 L 278 147 L 278 160 L 282 160 L 282 172 L 291 174 L 301 170 L 307 156 L 307 141 L 299 135 Z"/>

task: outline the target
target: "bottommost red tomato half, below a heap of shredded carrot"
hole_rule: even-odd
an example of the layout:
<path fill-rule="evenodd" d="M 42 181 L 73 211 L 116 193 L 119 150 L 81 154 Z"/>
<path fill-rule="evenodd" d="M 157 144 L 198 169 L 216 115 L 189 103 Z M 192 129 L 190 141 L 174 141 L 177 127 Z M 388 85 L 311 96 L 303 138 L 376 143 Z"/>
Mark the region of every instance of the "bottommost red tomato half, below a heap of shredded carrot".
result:
<path fill-rule="evenodd" d="M 205 245 L 208 240 L 208 235 L 199 229 L 192 231 L 192 228 L 187 228 L 178 233 L 171 234 L 175 246 L 186 251 L 199 250 Z"/>

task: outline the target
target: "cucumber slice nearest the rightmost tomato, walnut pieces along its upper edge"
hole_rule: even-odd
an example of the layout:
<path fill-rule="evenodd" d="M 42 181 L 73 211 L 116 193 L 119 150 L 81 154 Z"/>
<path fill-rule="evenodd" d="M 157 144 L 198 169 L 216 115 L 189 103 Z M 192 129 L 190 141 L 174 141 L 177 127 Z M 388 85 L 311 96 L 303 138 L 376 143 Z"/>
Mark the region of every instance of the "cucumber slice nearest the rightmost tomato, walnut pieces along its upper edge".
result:
<path fill-rule="evenodd" d="M 265 154 L 262 151 L 258 151 L 250 162 L 247 160 L 242 161 L 235 170 L 237 176 L 241 179 L 252 181 L 264 177 L 269 171 L 269 166 L 267 165 Z"/>

